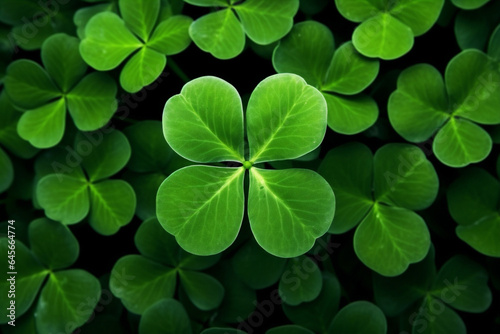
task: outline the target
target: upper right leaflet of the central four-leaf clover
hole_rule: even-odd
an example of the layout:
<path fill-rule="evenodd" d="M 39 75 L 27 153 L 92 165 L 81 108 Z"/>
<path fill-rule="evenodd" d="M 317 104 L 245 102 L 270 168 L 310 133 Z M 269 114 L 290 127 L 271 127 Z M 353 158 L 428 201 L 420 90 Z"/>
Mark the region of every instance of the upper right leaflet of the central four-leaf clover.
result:
<path fill-rule="evenodd" d="M 295 159 L 319 146 L 327 106 L 321 93 L 295 74 L 276 74 L 252 92 L 246 113 L 250 161 Z"/>

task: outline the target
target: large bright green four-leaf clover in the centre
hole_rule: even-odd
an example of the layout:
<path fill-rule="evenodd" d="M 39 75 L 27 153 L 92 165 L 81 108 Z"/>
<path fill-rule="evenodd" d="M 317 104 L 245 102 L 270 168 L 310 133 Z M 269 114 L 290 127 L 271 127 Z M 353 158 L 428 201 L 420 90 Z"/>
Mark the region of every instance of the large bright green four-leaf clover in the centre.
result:
<path fill-rule="evenodd" d="M 163 130 L 169 145 L 191 161 L 243 166 L 188 166 L 174 172 L 158 190 L 158 220 L 188 252 L 222 252 L 242 224 L 248 169 L 248 217 L 259 245 L 280 257 L 305 253 L 331 224 L 335 198 L 330 186 L 311 170 L 254 165 L 314 150 L 325 134 L 326 117 L 323 96 L 301 77 L 264 79 L 248 102 L 245 158 L 243 108 L 236 89 L 216 77 L 187 83 L 165 105 Z"/>

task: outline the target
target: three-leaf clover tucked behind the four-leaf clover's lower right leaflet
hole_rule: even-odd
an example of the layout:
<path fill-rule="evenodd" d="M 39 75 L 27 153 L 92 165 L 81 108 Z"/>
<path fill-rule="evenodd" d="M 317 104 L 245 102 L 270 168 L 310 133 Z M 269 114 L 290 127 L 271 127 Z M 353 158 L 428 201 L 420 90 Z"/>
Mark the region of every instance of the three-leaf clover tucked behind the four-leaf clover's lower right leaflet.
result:
<path fill-rule="evenodd" d="M 354 250 L 366 266 L 385 276 L 403 273 L 430 247 L 422 210 L 437 196 L 439 180 L 422 150 L 387 144 L 373 156 L 349 143 L 326 155 L 319 173 L 332 186 L 338 209 L 330 233 L 356 228 Z"/>

